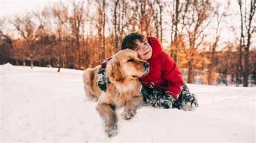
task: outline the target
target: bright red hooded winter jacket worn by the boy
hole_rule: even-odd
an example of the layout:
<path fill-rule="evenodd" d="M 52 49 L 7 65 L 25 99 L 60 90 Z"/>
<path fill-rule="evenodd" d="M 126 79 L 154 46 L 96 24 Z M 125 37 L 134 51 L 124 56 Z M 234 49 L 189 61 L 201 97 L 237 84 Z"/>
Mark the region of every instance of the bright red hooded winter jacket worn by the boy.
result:
<path fill-rule="evenodd" d="M 180 95 L 183 87 L 183 78 L 176 62 L 163 50 L 161 42 L 154 37 L 147 37 L 152 47 L 152 56 L 147 62 L 150 63 L 150 71 L 139 80 L 145 87 L 154 88 L 175 99 Z"/>

